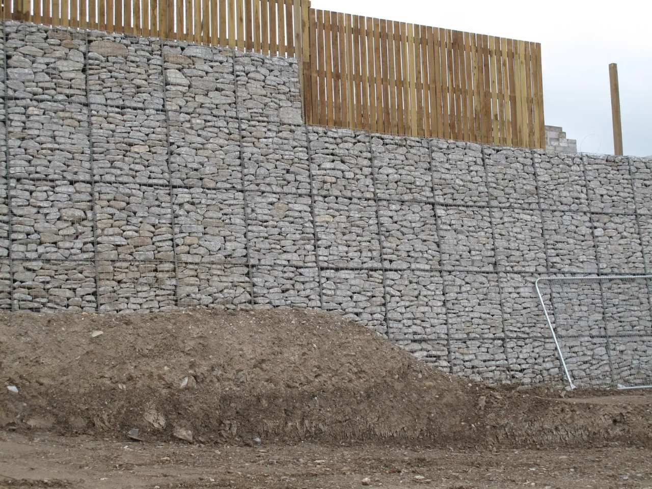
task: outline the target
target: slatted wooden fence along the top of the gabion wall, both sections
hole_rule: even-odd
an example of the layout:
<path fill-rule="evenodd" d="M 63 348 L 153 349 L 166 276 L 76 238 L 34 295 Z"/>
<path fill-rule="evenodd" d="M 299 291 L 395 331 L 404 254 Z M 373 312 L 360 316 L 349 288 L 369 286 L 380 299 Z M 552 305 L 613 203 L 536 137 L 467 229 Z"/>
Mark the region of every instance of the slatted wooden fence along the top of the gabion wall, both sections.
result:
<path fill-rule="evenodd" d="M 314 125 L 545 147 L 541 44 L 308 0 L 4 0 L 3 18 L 301 59 Z"/>

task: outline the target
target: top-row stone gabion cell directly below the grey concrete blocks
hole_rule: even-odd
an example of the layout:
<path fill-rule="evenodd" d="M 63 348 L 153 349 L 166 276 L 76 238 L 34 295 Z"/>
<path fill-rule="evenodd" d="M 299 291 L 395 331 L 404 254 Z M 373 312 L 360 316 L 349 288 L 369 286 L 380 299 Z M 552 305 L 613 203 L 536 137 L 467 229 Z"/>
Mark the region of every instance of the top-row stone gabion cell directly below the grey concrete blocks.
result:
<path fill-rule="evenodd" d="M 589 210 L 580 155 L 536 150 L 533 153 L 542 209 L 586 212 Z"/>

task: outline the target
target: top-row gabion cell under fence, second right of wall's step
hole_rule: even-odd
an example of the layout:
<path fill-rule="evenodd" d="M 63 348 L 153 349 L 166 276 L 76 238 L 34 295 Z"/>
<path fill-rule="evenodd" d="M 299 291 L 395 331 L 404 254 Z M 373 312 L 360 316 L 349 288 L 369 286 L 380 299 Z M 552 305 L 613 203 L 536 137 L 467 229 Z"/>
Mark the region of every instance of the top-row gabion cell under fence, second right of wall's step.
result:
<path fill-rule="evenodd" d="M 379 198 L 432 200 L 428 140 L 376 136 L 371 140 L 371 148 Z"/>

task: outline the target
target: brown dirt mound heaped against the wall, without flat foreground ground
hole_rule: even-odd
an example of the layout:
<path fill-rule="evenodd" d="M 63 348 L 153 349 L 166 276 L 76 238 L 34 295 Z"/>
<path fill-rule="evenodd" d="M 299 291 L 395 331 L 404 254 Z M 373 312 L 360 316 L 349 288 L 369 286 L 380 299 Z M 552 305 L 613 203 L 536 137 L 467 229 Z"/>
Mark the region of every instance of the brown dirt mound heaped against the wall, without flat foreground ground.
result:
<path fill-rule="evenodd" d="M 143 439 L 649 445 L 649 403 L 449 376 L 312 310 L 0 314 L 0 426 Z M 14 389 L 14 390 L 16 390 Z M 558 394 L 553 394 L 552 397 Z"/>

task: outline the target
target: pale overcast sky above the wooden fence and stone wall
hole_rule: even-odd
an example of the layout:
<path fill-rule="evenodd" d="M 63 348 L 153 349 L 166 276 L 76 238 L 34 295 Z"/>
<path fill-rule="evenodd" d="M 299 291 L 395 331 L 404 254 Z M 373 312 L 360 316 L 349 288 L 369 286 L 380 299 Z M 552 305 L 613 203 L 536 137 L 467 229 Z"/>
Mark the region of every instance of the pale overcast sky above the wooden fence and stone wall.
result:
<path fill-rule="evenodd" d="M 625 155 L 652 155 L 652 38 L 644 0 L 312 0 L 312 7 L 541 42 L 547 125 L 578 151 L 613 153 L 609 63 L 617 63 Z"/>

